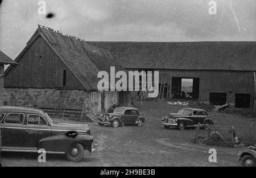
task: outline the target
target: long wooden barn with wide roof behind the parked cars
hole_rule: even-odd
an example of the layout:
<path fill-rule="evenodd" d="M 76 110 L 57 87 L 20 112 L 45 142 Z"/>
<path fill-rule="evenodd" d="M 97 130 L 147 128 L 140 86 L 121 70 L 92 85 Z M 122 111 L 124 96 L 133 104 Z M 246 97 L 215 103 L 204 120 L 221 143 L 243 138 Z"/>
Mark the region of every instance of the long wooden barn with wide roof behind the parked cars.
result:
<path fill-rule="evenodd" d="M 256 42 L 88 43 L 108 49 L 127 70 L 160 71 L 160 97 L 255 103 Z"/>

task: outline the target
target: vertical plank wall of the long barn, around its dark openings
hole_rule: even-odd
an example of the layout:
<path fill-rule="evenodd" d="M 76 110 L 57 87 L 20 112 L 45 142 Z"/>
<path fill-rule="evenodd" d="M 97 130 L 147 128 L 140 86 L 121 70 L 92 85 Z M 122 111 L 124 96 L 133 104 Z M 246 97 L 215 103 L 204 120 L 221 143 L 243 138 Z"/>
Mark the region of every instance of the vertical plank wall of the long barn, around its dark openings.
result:
<path fill-rule="evenodd" d="M 134 71 L 135 69 L 127 69 Z M 156 69 L 159 71 L 159 82 L 162 75 L 167 76 L 167 83 L 170 85 L 168 96 L 171 97 L 172 77 L 200 78 L 199 101 L 209 101 L 210 92 L 227 94 L 227 102 L 235 101 L 236 93 L 249 93 L 254 97 L 254 76 L 253 72 L 243 71 L 196 71 L 177 69 Z"/>

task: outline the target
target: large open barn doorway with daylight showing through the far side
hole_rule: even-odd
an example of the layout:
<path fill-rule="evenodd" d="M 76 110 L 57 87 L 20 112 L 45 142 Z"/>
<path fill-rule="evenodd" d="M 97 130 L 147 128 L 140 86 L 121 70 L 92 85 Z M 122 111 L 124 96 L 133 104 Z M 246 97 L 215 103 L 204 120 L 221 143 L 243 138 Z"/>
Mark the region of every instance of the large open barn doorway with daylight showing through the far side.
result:
<path fill-rule="evenodd" d="M 172 77 L 175 98 L 199 98 L 199 78 Z"/>

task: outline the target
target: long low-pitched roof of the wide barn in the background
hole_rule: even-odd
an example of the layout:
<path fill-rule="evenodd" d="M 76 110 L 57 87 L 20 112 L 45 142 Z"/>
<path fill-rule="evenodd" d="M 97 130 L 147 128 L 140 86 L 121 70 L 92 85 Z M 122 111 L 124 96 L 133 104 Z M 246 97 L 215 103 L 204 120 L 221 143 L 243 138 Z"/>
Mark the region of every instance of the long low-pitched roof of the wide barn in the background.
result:
<path fill-rule="evenodd" d="M 256 71 L 256 42 L 88 42 L 125 68 Z"/>

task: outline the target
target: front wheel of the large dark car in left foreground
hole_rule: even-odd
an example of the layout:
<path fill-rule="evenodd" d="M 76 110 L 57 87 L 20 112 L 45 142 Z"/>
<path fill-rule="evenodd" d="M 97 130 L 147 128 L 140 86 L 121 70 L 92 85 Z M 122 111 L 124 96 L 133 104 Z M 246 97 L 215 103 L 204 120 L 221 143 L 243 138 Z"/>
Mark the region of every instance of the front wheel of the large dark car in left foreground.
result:
<path fill-rule="evenodd" d="M 84 156 L 84 147 L 80 143 L 71 144 L 65 156 L 69 161 L 79 162 Z"/>

